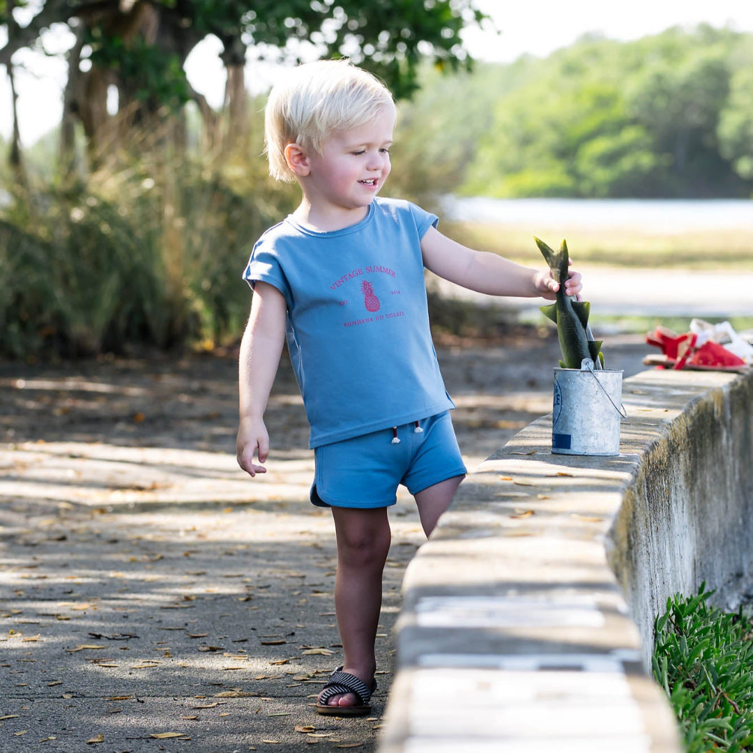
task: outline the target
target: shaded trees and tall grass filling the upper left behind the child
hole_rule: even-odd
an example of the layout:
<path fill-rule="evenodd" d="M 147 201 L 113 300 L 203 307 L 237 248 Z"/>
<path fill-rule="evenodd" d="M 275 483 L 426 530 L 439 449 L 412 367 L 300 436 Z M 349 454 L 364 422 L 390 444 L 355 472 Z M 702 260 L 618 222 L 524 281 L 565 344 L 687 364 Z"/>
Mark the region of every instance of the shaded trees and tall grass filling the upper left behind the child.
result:
<path fill-rule="evenodd" d="M 14 53 L 61 26 L 73 40 L 57 148 L 23 154 L 17 127 L 8 147 L 0 355 L 236 337 L 251 245 L 295 200 L 260 157 L 249 62 L 347 55 L 405 97 L 422 61 L 469 65 L 459 32 L 481 18 L 471 0 L 0 0 L 11 84 Z M 227 78 L 216 111 L 184 71 L 208 35 Z"/>

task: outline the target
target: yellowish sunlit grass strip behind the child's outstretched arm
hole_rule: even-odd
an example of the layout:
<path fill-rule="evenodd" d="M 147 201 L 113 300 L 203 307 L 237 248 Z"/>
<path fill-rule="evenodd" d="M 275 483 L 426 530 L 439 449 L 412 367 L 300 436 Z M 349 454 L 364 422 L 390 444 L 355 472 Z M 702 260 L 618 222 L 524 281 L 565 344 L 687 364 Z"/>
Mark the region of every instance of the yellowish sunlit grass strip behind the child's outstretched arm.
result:
<path fill-rule="evenodd" d="M 540 264 L 541 254 L 529 227 L 465 222 L 443 223 L 445 233 L 471 248 L 501 254 L 520 264 Z M 753 230 L 652 233 L 636 227 L 593 229 L 542 227 L 536 235 L 549 245 L 567 239 L 570 255 L 581 267 L 739 270 L 753 272 Z"/>

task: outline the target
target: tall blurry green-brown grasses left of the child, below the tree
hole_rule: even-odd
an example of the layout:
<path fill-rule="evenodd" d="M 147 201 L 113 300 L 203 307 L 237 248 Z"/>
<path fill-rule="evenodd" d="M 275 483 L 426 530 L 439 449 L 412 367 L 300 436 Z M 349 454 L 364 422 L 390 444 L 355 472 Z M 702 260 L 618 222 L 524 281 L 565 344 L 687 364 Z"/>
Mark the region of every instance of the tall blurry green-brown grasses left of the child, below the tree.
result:
<path fill-rule="evenodd" d="M 250 300 L 243 264 L 290 208 L 261 197 L 264 181 L 235 166 L 132 165 L 17 193 L 0 217 L 0 355 L 236 337 Z"/>

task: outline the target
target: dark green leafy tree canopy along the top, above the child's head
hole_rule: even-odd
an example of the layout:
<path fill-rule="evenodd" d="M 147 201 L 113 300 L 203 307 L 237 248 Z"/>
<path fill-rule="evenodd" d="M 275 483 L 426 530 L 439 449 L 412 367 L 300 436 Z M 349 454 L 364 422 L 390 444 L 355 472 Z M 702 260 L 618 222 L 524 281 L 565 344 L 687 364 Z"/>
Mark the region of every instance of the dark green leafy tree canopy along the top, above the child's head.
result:
<path fill-rule="evenodd" d="M 141 84 L 140 99 L 154 98 L 168 105 L 186 96 L 183 63 L 193 47 L 210 34 L 223 43 L 224 62 L 233 65 L 243 65 L 247 52 L 292 62 L 300 53 L 295 42 L 314 44 L 322 56 L 349 56 L 380 75 L 401 98 L 418 87 L 422 59 L 453 70 L 468 68 L 471 60 L 460 32 L 485 18 L 474 7 L 474 0 L 259 0 L 253 4 L 242 0 L 154 0 L 149 5 L 159 17 L 155 44 L 133 33 L 126 43 L 120 35 L 127 15 L 139 14 L 139 3 L 127 10 L 119 0 L 96 4 L 48 0 L 40 5 L 32 23 L 23 30 L 23 41 L 14 43 L 14 49 L 35 44 L 40 32 L 53 23 L 72 27 L 84 23 L 94 46 L 94 62 L 99 60 L 108 69 L 117 70 L 126 83 L 133 74 Z M 5 4 L 0 5 L 0 26 L 8 23 L 4 8 Z M 133 27 L 130 29 L 133 32 Z M 8 45 L 0 48 L 0 63 L 11 53 Z"/>

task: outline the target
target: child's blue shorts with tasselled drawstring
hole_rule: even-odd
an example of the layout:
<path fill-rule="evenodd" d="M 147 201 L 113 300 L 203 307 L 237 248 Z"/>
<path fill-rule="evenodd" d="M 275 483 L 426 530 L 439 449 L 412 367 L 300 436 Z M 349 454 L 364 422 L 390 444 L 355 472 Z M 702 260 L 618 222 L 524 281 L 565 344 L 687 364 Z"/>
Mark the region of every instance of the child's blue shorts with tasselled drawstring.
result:
<path fill-rule="evenodd" d="M 316 447 L 311 502 L 320 508 L 386 508 L 398 485 L 411 494 L 463 476 L 465 465 L 450 412 Z M 399 443 L 392 442 L 397 435 Z"/>

